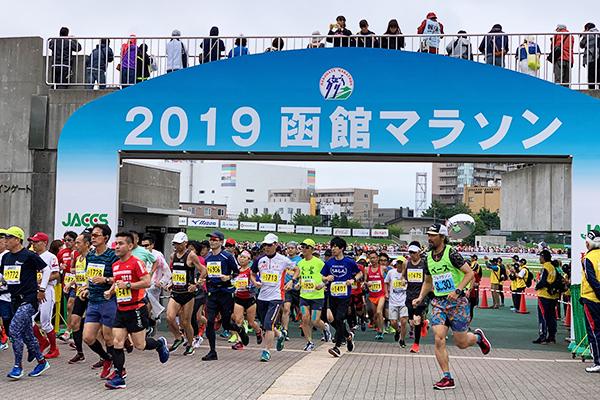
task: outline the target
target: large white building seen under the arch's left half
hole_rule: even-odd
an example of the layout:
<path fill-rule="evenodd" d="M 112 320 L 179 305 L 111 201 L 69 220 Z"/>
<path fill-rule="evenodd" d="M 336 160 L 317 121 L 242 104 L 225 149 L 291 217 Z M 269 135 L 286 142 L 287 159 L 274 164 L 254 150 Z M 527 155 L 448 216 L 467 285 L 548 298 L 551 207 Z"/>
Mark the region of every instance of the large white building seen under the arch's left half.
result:
<path fill-rule="evenodd" d="M 310 168 L 238 161 L 145 160 L 144 162 L 181 171 L 180 201 L 182 203 L 225 204 L 227 217 L 231 219 L 237 218 L 240 212 L 246 209 L 248 215 L 252 215 L 255 208 L 259 209 L 258 214 L 263 214 L 262 210 L 268 207 L 266 205 L 257 207 L 256 203 L 269 201 L 269 189 L 315 188 L 315 170 Z M 289 207 L 284 208 L 287 211 Z M 309 212 L 303 211 L 303 213 Z M 282 218 L 286 219 L 283 216 Z"/>

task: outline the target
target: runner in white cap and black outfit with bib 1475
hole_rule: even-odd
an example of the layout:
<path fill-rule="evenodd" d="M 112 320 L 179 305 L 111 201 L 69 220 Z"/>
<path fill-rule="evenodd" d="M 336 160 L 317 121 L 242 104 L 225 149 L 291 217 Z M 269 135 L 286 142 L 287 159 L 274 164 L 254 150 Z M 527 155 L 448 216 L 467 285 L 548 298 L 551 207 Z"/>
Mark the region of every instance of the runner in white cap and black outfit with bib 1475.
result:
<path fill-rule="evenodd" d="M 429 307 L 429 296 L 425 296 L 421 304 L 413 307 L 413 300 L 421 294 L 423 287 L 423 278 L 427 269 L 426 259 L 421 257 L 421 244 L 413 241 L 408 246 L 408 259 L 404 263 L 404 275 L 408 281 L 406 285 L 406 307 L 408 308 L 408 320 L 410 326 L 414 329 L 414 343 L 410 348 L 411 353 L 419 352 L 419 343 L 421 338 L 427 336 L 427 327 L 429 321 L 425 319 L 427 316 L 427 308 Z"/>

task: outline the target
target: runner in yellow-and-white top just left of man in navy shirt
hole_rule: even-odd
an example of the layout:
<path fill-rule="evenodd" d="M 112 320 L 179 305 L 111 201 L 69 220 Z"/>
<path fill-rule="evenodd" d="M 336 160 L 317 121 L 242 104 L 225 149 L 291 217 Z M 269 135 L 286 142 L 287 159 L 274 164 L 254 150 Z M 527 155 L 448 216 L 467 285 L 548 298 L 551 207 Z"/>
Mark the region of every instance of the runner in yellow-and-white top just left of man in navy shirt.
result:
<path fill-rule="evenodd" d="M 69 360 L 69 364 L 77 364 L 79 362 L 85 362 L 85 355 L 83 354 L 83 329 L 82 322 L 85 315 L 85 310 L 88 306 L 88 300 L 82 298 L 81 293 L 83 289 L 87 287 L 87 277 L 85 275 L 86 269 L 86 257 L 90 251 L 92 235 L 89 233 L 82 233 L 75 239 L 75 249 L 79 253 L 79 257 L 75 259 L 75 282 L 71 282 L 65 286 L 65 293 L 75 289 L 75 303 L 73 304 L 73 313 L 71 315 L 71 328 L 73 329 L 73 341 L 75 342 L 75 348 L 77 354 L 75 357 Z"/>

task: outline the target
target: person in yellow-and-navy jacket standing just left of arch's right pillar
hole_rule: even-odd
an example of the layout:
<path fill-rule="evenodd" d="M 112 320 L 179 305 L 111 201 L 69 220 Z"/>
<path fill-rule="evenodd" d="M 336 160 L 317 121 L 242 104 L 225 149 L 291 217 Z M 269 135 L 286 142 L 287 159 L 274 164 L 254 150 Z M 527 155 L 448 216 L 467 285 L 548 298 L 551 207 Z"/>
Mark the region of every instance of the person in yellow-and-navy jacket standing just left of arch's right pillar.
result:
<path fill-rule="evenodd" d="M 539 256 L 542 269 L 540 270 L 540 280 L 535 285 L 535 290 L 538 291 L 540 335 L 532 343 L 556 343 L 556 305 L 558 304 L 560 293 L 554 293 L 551 286 L 556 279 L 562 278 L 552 263 L 552 255 L 549 250 L 542 250 Z"/>

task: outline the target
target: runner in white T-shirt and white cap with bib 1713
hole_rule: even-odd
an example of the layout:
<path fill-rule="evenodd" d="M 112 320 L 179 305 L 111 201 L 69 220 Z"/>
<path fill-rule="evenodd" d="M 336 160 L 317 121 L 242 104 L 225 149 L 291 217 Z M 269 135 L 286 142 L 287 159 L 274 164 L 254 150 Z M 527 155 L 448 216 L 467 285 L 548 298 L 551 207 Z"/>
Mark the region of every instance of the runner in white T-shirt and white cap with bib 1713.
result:
<path fill-rule="evenodd" d="M 265 350 L 260 356 L 260 361 L 271 361 L 271 345 L 277 335 L 277 351 L 283 350 L 287 332 L 281 332 L 275 329 L 275 320 L 279 315 L 279 309 L 283 305 L 285 291 L 290 290 L 292 282 L 298 279 L 300 270 L 298 266 L 289 258 L 276 252 L 277 235 L 269 233 L 263 240 L 265 253 L 258 256 L 252 263 L 252 274 L 250 279 L 256 288 L 260 289 L 258 294 L 258 310 L 262 319 L 264 330 Z M 292 280 L 285 283 L 283 274 L 286 270 L 293 270 Z M 260 281 L 256 278 L 259 277 Z"/>

